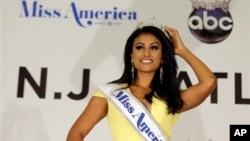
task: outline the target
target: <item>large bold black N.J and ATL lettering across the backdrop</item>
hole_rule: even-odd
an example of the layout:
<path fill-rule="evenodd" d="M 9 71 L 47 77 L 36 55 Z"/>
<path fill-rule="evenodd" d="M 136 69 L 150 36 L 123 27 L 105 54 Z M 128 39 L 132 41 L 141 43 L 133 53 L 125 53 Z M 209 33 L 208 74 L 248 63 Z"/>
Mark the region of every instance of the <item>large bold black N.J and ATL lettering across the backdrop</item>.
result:
<path fill-rule="evenodd" d="M 47 84 L 47 68 L 41 68 L 40 73 L 40 82 L 38 83 L 28 71 L 26 67 L 19 68 L 19 76 L 18 76 L 18 88 L 17 88 L 17 97 L 23 98 L 24 97 L 24 88 L 25 82 L 33 88 L 36 95 L 44 99 L 46 98 L 46 84 Z M 217 79 L 227 79 L 228 73 L 227 72 L 215 72 L 214 73 Z M 83 69 L 83 76 L 82 76 L 82 88 L 80 93 L 74 93 L 70 91 L 67 96 L 72 100 L 81 100 L 84 99 L 89 92 L 89 77 L 90 77 L 90 69 Z M 192 82 L 190 77 L 186 71 L 180 71 L 178 76 L 179 84 L 183 81 L 186 87 L 192 86 Z M 25 81 L 26 80 L 26 81 Z M 235 73 L 234 74 L 234 88 L 235 88 L 235 104 L 250 104 L 250 98 L 243 98 L 242 97 L 242 74 Z M 211 103 L 218 103 L 218 87 L 211 93 Z M 54 99 L 61 99 L 61 92 L 54 93 Z"/>

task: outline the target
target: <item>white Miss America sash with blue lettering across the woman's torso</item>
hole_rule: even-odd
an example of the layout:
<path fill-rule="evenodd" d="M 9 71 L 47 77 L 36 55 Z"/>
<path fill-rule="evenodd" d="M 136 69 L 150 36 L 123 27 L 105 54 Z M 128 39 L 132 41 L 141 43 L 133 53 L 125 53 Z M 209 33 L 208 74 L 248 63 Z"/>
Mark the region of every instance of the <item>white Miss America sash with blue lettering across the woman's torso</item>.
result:
<path fill-rule="evenodd" d="M 118 84 L 108 84 L 98 89 L 126 117 L 145 141 L 167 141 L 165 133 L 148 110 L 127 90 Z"/>

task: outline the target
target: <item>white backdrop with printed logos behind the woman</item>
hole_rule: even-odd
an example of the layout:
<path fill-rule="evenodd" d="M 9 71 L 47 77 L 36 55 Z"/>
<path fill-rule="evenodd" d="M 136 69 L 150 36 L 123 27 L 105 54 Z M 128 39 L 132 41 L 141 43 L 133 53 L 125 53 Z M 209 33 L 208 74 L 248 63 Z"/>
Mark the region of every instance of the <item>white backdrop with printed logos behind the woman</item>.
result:
<path fill-rule="evenodd" d="M 230 124 L 250 124 L 249 0 L 230 2 L 233 30 L 227 39 L 216 44 L 202 43 L 189 31 L 190 0 L 37 0 L 36 6 L 35 0 L 26 2 L 26 16 L 23 0 L 0 3 L 1 141 L 65 140 L 94 86 L 120 76 L 124 44 L 135 29 L 136 20 L 153 16 L 160 23 L 177 28 L 185 44 L 213 72 L 225 74 L 218 79 L 217 102 L 211 103 L 209 97 L 196 109 L 183 113 L 172 141 L 228 141 Z M 124 11 L 136 14 L 136 19 L 113 15 L 81 17 L 79 22 L 85 26 L 88 20 L 93 22 L 81 27 L 72 6 L 78 12 L 111 11 L 114 15 Z M 195 83 L 189 66 L 179 58 L 178 62 L 180 71 L 187 72 Z M 82 80 L 88 78 L 86 73 L 83 75 L 84 69 L 90 70 L 89 89 L 84 88 L 81 93 Z M 27 78 L 28 74 L 31 77 Z M 242 98 L 247 100 L 245 104 L 235 104 L 235 74 L 241 74 L 240 90 Z M 45 81 L 40 82 L 42 79 Z M 19 80 L 24 80 L 24 84 Z M 74 100 L 68 97 L 71 91 L 88 95 Z M 106 119 L 86 140 L 112 140 Z"/>

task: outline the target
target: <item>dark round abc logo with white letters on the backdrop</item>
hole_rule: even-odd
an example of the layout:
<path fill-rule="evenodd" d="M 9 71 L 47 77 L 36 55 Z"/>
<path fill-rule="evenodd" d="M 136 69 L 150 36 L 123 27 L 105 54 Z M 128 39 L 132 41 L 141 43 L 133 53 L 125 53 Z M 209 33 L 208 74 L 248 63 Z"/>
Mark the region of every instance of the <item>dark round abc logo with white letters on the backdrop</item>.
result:
<path fill-rule="evenodd" d="M 233 20 L 228 11 L 216 8 L 194 9 L 188 18 L 191 33 L 205 43 L 218 43 L 226 39 L 232 31 Z"/>

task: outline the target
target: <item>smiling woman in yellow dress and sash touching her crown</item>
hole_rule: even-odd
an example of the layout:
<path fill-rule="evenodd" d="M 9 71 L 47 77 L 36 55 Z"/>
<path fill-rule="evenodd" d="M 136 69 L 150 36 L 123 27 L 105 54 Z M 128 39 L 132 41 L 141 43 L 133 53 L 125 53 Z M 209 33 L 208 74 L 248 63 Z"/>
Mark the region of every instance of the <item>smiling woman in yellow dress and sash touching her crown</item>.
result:
<path fill-rule="evenodd" d="M 179 90 L 175 55 L 193 69 L 196 85 Z M 115 141 L 170 140 L 179 113 L 201 104 L 216 87 L 210 69 L 168 26 L 136 29 L 127 40 L 124 62 L 122 76 L 96 90 L 67 141 L 82 141 L 105 116 Z"/>

